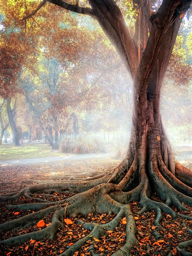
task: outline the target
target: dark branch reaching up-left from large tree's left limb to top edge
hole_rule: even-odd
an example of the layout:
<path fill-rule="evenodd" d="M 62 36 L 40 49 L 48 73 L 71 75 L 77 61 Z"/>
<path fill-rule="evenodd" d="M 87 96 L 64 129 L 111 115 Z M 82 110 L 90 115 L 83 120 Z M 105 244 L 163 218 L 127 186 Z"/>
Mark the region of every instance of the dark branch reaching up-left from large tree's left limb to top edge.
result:
<path fill-rule="evenodd" d="M 77 1 L 77 4 L 69 4 L 69 3 L 67 3 L 63 0 L 47 0 L 47 2 L 50 2 L 51 4 L 61 6 L 61 7 L 63 7 L 64 9 L 66 9 L 68 11 L 73 11 L 75 13 L 86 14 L 86 15 L 89 15 L 89 16 L 96 19 L 96 16 L 94 15 L 94 12 L 92 11 L 92 9 L 87 8 L 87 7 L 79 6 L 79 1 Z"/>

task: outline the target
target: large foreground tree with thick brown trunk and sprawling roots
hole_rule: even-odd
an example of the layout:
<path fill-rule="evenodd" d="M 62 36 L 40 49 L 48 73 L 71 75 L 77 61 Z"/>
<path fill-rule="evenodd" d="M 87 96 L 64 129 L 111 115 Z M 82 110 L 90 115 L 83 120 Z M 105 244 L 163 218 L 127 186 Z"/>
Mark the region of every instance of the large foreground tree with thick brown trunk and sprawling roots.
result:
<path fill-rule="evenodd" d="M 51 225 L 38 232 L 13 237 L 1 244 L 13 245 L 28 239 L 53 239 L 58 228 L 62 228 L 64 215 L 115 213 L 112 222 L 106 225 L 84 223 L 83 227 L 92 232 L 77 241 L 62 255 L 72 255 L 73 252 L 92 236 L 100 237 L 107 230 L 117 226 L 122 215 L 127 218 L 127 239 L 125 245 L 114 255 L 129 255 L 130 249 L 137 243 L 137 227 L 131 212 L 129 202 L 136 200 L 142 207 L 140 213 L 154 209 L 156 211 L 155 226 L 160 225 L 162 211 L 172 217 L 181 216 L 171 206 L 179 211 L 186 210 L 185 205 L 192 206 L 192 173 L 181 166 L 175 159 L 169 139 L 160 114 L 160 94 L 162 82 L 166 73 L 171 52 L 175 43 L 183 14 L 189 8 L 189 0 L 140 1 L 134 0 L 135 33 L 133 38 L 126 26 L 124 12 L 126 5 L 119 6 L 113 0 L 89 0 L 79 4 L 70 4 L 63 0 L 43 0 L 30 15 L 32 17 L 46 2 L 58 5 L 69 11 L 90 15 L 98 21 L 102 30 L 115 46 L 127 72 L 133 80 L 133 114 L 130 143 L 126 158 L 112 170 L 105 173 L 86 173 L 85 180 L 81 178 L 85 173 L 74 174 L 74 181 L 64 181 L 67 176 L 60 176 L 62 181 L 35 184 L 24 188 L 20 192 L 1 197 L 2 201 L 14 200 L 21 195 L 32 198 L 38 191 L 70 191 L 74 196 L 54 203 L 36 203 L 14 205 L 14 209 L 35 210 L 18 220 L 0 225 L 1 231 L 21 228 L 28 222 L 40 220 L 43 215 L 55 211 Z M 47 4 L 49 4 L 47 3 Z M 46 5 L 47 5 L 46 4 Z M 72 177 L 70 177 L 72 179 Z M 161 202 L 151 198 L 152 192 L 160 197 Z M 47 206 L 46 209 L 39 211 Z M 158 238 L 158 229 L 156 230 Z M 181 243 L 179 246 L 191 246 L 192 241 Z M 181 251 L 179 247 L 177 250 Z"/>

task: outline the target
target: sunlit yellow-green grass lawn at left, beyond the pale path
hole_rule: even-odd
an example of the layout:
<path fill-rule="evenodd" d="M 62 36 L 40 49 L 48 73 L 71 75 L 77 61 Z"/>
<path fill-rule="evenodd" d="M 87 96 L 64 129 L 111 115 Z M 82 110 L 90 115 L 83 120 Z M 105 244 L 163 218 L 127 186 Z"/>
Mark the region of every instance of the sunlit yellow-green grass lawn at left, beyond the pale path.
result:
<path fill-rule="evenodd" d="M 19 147 L 13 144 L 0 145 L 0 161 L 53 156 L 64 156 L 64 154 L 52 150 L 48 143 L 21 144 Z"/>

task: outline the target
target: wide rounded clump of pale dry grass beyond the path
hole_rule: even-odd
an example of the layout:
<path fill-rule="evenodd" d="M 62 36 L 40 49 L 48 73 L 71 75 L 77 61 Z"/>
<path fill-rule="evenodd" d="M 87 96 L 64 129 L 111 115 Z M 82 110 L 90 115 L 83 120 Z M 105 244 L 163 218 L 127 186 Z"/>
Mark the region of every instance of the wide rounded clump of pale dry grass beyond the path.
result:
<path fill-rule="evenodd" d="M 73 154 L 106 153 L 101 141 L 85 135 L 64 136 L 60 143 L 60 151 Z"/>

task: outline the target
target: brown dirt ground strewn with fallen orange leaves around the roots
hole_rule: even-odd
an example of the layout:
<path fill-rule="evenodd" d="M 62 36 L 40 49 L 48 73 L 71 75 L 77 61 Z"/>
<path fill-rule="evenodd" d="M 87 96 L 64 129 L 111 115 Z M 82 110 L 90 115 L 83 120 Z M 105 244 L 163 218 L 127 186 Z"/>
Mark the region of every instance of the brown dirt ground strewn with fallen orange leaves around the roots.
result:
<path fill-rule="evenodd" d="M 192 161 L 190 160 L 191 151 L 189 148 L 184 148 L 178 150 L 177 159 L 185 164 L 186 166 L 192 166 Z M 74 170 L 91 171 L 99 170 L 105 171 L 108 168 L 115 167 L 120 160 L 114 160 L 111 158 L 80 158 L 80 159 L 65 159 L 56 160 L 44 163 L 30 163 L 29 165 L 17 164 L 11 166 L 1 166 L 0 168 L 0 193 L 4 194 L 6 192 L 12 192 L 15 190 L 20 190 L 28 185 L 28 180 L 43 180 L 50 179 L 52 175 L 64 175 L 66 173 L 72 173 Z M 12 181 L 12 183 L 7 183 Z M 35 182 L 34 182 L 35 183 Z M 72 196 L 71 194 L 56 193 L 56 198 L 45 197 L 46 200 L 61 200 Z M 157 196 L 153 195 L 156 201 L 159 200 Z M 38 197 L 38 196 L 36 196 Z M 40 196 L 41 197 L 41 196 Z M 34 203 L 35 199 L 26 199 L 21 197 L 16 201 L 11 202 L 11 204 L 22 204 L 22 203 Z M 0 223 L 7 222 L 9 220 L 20 218 L 26 214 L 31 213 L 24 211 L 14 211 L 8 209 L 10 202 L 1 203 L 0 205 Z M 161 228 L 158 232 L 161 238 L 156 241 L 154 232 L 156 226 L 153 222 L 155 220 L 155 212 L 151 211 L 149 213 L 144 213 L 143 215 L 137 214 L 139 209 L 138 202 L 130 203 L 131 209 L 134 212 L 135 220 L 137 222 L 137 239 L 139 243 L 134 246 L 131 250 L 131 256 L 135 255 L 180 255 L 176 247 L 178 243 L 189 240 L 190 235 L 186 231 L 186 227 L 183 226 L 185 222 L 187 228 L 192 228 L 191 220 L 183 220 L 181 218 L 172 219 L 169 214 L 163 214 L 163 219 L 161 222 Z M 189 207 L 188 207 L 189 208 Z M 192 208 L 190 208 L 192 210 Z M 177 211 L 177 210 L 176 210 Z M 185 215 L 190 215 L 190 212 L 181 212 Z M 87 222 L 97 222 L 97 223 L 107 223 L 112 220 L 114 215 L 107 214 L 89 214 L 86 216 L 78 216 L 70 218 L 70 224 L 65 223 L 64 229 L 58 230 L 53 241 L 35 241 L 29 240 L 26 243 L 21 243 L 14 247 L 0 246 L 0 255 L 34 255 L 34 256 L 44 256 L 44 255 L 59 255 L 64 252 L 68 247 L 73 245 L 78 239 L 85 237 L 90 231 L 81 227 L 77 224 L 77 220 L 85 220 Z M 48 226 L 51 222 L 52 214 L 44 218 L 45 226 Z M 38 223 L 33 223 L 32 226 L 28 226 L 20 230 L 12 230 L 1 234 L 1 239 L 7 239 L 18 234 L 24 234 L 36 230 L 40 230 L 45 226 L 38 227 Z M 94 241 L 94 239 L 88 240 L 85 245 L 74 255 L 86 256 L 93 255 L 90 248 L 94 247 L 95 255 L 110 256 L 120 247 L 124 245 L 126 241 L 126 220 L 122 218 L 119 226 L 114 231 L 108 232 L 107 235 L 101 237 L 99 241 Z M 171 253 L 171 254 L 170 254 Z"/>

